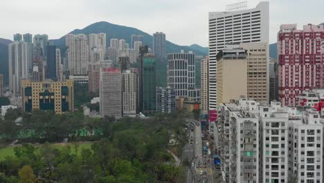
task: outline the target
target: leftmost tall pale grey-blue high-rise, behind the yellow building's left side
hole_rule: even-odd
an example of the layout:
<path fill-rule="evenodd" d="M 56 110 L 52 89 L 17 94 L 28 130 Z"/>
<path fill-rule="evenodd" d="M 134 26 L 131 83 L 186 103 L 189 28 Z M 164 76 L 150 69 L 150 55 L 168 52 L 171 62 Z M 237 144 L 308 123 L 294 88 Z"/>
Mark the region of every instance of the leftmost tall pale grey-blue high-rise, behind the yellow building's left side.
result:
<path fill-rule="evenodd" d="M 28 79 L 28 46 L 26 42 L 12 42 L 8 45 L 9 88 L 14 96 L 21 93 L 21 80 Z"/>

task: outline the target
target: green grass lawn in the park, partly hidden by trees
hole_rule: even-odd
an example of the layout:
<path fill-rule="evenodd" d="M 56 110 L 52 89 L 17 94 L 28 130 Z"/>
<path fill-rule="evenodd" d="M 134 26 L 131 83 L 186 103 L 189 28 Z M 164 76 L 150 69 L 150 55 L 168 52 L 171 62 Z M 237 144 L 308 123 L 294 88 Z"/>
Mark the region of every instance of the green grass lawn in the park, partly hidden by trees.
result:
<path fill-rule="evenodd" d="M 80 142 L 78 143 L 78 155 L 80 155 L 82 148 L 91 148 L 93 142 Z M 19 146 L 19 145 L 18 145 Z M 35 146 L 40 147 L 42 144 L 35 144 Z M 71 146 L 71 152 L 75 153 L 75 145 L 74 143 L 53 143 L 53 146 L 55 148 L 61 149 L 65 146 Z M 15 146 L 8 146 L 6 148 L 1 148 L 0 149 L 0 160 L 4 159 L 7 156 L 15 156 L 14 152 Z"/>

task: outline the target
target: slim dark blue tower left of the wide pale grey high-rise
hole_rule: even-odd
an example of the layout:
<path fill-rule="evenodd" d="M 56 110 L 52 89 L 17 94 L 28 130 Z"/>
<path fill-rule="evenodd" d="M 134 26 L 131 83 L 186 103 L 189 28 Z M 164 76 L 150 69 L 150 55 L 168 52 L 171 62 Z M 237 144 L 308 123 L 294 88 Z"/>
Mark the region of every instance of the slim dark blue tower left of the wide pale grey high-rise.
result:
<path fill-rule="evenodd" d="M 46 72 L 45 78 L 56 80 L 56 46 L 46 45 Z"/>

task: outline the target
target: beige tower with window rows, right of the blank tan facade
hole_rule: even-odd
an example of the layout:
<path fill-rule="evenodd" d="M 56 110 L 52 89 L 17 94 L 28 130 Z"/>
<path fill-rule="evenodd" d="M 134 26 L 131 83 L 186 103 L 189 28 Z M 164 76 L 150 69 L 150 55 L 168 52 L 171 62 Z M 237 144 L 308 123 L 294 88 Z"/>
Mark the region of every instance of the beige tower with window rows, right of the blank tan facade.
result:
<path fill-rule="evenodd" d="M 253 101 L 269 101 L 269 45 L 266 42 L 242 43 L 247 58 L 247 96 Z"/>

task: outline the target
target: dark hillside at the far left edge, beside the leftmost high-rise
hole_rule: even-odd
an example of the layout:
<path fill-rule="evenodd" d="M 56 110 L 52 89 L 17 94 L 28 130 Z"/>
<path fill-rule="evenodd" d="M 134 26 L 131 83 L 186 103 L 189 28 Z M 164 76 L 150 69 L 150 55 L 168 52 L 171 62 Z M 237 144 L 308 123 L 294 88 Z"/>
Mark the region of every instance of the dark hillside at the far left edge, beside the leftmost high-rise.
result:
<path fill-rule="evenodd" d="M 8 44 L 12 43 L 10 40 L 0 38 L 0 73 L 4 75 L 4 83 L 8 84 Z"/>

